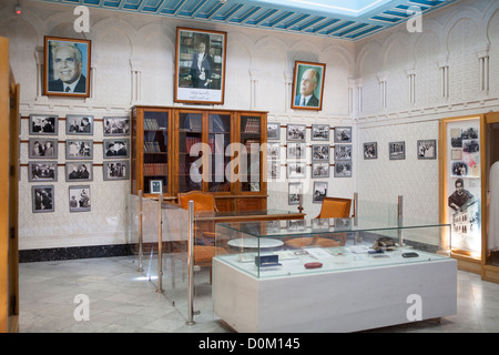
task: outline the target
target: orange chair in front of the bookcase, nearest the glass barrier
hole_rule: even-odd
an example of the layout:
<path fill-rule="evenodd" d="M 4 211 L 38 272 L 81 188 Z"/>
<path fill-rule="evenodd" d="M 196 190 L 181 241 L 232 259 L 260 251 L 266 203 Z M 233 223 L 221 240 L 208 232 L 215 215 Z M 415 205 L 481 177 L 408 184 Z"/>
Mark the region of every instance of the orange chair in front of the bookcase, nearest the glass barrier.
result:
<path fill-rule="evenodd" d="M 182 209 L 189 209 L 189 201 L 194 201 L 194 213 L 201 211 L 217 212 L 215 197 L 203 191 L 179 193 L 179 204 Z M 206 222 L 202 226 L 194 227 L 194 265 L 210 266 L 210 283 L 212 283 L 212 258 L 217 254 L 226 254 L 223 247 L 215 246 L 214 223 Z"/>

